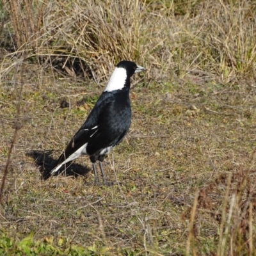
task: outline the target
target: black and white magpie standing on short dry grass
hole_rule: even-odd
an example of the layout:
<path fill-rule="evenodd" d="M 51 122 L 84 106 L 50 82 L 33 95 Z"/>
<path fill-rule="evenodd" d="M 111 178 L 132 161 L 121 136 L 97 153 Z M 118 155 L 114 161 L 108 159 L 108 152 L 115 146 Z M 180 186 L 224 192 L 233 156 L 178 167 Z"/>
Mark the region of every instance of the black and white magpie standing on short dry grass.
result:
<path fill-rule="evenodd" d="M 106 175 L 102 161 L 111 148 L 118 145 L 127 134 L 131 125 L 131 104 L 129 98 L 130 78 L 145 68 L 132 61 L 120 61 L 111 75 L 106 89 L 88 115 L 88 118 L 76 132 L 65 152 L 61 154 L 54 168 L 45 175 L 60 173 L 60 168 L 81 155 L 90 156 L 95 182 L 99 182 L 95 163 L 99 161 L 104 184 Z"/>

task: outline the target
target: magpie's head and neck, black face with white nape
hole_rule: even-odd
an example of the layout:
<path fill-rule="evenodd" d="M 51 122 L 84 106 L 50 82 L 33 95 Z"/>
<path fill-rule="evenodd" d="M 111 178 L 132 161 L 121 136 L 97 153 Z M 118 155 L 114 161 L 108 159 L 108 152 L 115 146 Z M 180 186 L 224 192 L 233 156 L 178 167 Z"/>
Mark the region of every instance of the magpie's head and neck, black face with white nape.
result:
<path fill-rule="evenodd" d="M 105 92 L 113 92 L 115 90 L 122 90 L 124 87 L 130 87 L 130 78 L 134 73 L 145 71 L 136 63 L 128 60 L 120 61 L 111 75 Z"/>

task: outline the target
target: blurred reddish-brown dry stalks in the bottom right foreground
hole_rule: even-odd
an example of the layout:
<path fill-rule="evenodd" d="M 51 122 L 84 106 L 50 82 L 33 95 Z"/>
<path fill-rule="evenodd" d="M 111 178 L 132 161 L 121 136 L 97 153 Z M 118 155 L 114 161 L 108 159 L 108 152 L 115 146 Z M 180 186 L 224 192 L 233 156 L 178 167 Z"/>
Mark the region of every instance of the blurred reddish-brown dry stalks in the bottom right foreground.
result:
<path fill-rule="evenodd" d="M 253 170 L 218 176 L 197 191 L 191 209 L 187 255 L 194 252 L 253 255 L 255 234 L 255 182 Z M 220 225 L 218 233 L 204 229 L 205 219 Z"/>

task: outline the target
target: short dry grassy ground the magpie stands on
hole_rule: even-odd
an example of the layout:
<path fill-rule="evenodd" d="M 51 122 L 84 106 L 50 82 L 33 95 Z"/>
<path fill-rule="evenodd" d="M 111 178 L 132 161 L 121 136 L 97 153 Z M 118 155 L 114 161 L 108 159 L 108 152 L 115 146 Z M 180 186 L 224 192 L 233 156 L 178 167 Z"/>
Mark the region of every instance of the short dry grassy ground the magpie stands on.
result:
<path fill-rule="evenodd" d="M 22 129 L 0 207 L 5 233 L 19 239 L 33 231 L 37 240 L 53 237 L 53 243 L 64 239 L 85 247 L 95 243 L 99 254 L 146 250 L 180 255 L 200 189 L 193 232 L 202 252 L 216 248 L 227 186 L 237 191 L 244 173 L 250 177 L 246 186 L 255 186 L 253 84 L 190 77 L 148 83 L 146 75 L 131 89 L 129 134 L 104 162 L 115 183 L 106 187 L 94 185 L 88 157 L 72 164 L 74 172 L 83 174 L 78 177 L 43 181 L 37 166 L 58 157 L 104 84 L 51 83 L 49 77 L 41 84 L 24 81 Z M 1 170 L 13 136 L 15 93 L 8 84 L 1 88 Z M 60 108 L 63 99 L 69 108 Z"/>

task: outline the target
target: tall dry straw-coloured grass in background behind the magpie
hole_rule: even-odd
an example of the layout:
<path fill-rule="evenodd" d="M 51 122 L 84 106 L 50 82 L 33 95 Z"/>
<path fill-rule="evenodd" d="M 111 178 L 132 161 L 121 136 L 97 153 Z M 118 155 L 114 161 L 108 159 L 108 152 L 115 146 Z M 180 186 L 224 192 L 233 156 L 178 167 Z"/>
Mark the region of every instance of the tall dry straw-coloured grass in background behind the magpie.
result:
<path fill-rule="evenodd" d="M 100 81 L 124 59 L 147 63 L 149 78 L 255 77 L 255 6 L 248 1 L 18 3 L 5 3 L 15 50 L 72 77 Z"/>

